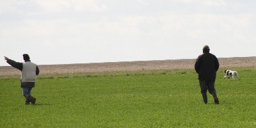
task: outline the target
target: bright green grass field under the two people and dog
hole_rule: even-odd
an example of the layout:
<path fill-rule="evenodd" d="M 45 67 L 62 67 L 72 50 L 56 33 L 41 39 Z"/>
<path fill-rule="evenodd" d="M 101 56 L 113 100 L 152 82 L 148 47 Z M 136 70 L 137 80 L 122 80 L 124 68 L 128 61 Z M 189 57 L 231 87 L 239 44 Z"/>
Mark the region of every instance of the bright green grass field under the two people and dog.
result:
<path fill-rule="evenodd" d="M 256 127 L 256 68 L 232 68 L 204 104 L 195 70 L 40 75 L 25 106 L 19 76 L 0 78 L 0 127 Z"/>

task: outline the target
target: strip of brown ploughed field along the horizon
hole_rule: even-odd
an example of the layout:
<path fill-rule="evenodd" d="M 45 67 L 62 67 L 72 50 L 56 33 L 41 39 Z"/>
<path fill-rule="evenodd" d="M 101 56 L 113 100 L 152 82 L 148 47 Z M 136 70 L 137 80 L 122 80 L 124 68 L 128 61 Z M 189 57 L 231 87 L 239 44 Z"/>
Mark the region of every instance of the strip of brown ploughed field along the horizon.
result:
<path fill-rule="evenodd" d="M 78 72 L 111 72 L 125 70 L 161 70 L 191 69 L 196 59 L 156 60 L 156 61 L 124 61 L 109 63 L 77 63 L 65 65 L 38 65 L 40 74 L 60 74 Z M 220 68 L 256 67 L 256 56 L 237 58 L 218 58 Z M 17 75 L 20 71 L 11 66 L 0 67 L 0 76 Z"/>

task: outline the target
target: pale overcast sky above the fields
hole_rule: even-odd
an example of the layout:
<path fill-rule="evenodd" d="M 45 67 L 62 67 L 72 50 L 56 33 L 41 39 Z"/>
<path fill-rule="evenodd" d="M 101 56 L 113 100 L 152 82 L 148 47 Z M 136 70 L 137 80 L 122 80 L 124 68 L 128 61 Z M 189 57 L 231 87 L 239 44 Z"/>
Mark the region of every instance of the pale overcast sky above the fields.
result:
<path fill-rule="evenodd" d="M 256 56 L 254 0 L 0 1 L 0 66 Z"/>

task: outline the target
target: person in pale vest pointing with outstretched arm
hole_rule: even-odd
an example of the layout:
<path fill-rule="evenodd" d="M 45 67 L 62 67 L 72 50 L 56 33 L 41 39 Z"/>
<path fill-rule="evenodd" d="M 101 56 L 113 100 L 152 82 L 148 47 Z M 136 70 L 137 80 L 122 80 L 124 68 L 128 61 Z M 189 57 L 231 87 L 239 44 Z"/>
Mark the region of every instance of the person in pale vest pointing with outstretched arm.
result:
<path fill-rule="evenodd" d="M 15 67 L 21 71 L 21 77 L 20 77 L 20 87 L 22 88 L 22 93 L 24 97 L 26 97 L 25 104 L 35 104 L 36 99 L 31 96 L 31 90 L 33 87 L 35 87 L 36 82 L 36 75 L 39 74 L 39 68 L 35 63 L 32 63 L 30 61 L 28 54 L 23 54 L 23 60 L 24 63 L 16 62 L 13 60 L 10 60 L 6 56 L 4 56 L 4 60 L 11 65 L 12 67 Z"/>

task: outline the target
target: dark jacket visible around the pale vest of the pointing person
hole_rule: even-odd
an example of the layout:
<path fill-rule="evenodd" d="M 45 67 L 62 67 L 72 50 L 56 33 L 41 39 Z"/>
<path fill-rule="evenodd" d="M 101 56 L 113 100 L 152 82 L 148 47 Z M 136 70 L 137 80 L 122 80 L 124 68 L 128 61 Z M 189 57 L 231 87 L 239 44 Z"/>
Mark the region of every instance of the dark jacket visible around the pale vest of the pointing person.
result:
<path fill-rule="evenodd" d="M 30 61 L 30 60 L 28 60 L 28 61 Z M 22 71 L 22 69 L 23 69 L 23 64 L 20 63 L 20 62 L 16 62 L 16 61 L 10 60 L 10 59 L 8 59 L 6 62 L 7 62 L 9 65 L 11 65 L 12 67 L 19 69 L 20 71 Z M 38 66 L 36 65 L 36 75 L 38 75 L 39 72 L 40 72 L 40 70 L 39 70 Z M 22 88 L 26 88 L 26 87 L 31 88 L 31 87 L 34 87 L 34 86 L 35 86 L 35 82 L 21 83 L 20 86 L 21 86 Z"/>

